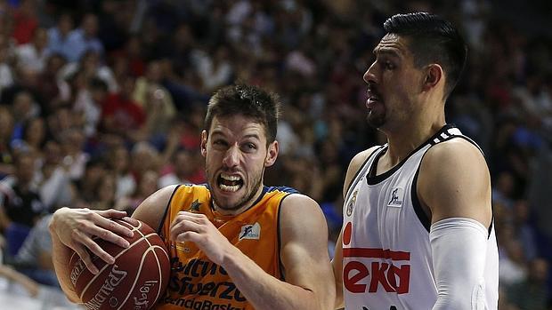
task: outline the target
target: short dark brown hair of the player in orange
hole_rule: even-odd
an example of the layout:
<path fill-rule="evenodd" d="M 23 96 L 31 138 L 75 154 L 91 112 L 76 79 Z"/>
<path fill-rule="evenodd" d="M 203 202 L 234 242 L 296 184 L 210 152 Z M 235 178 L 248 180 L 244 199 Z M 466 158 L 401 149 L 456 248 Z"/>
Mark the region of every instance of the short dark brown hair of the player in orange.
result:
<path fill-rule="evenodd" d="M 276 139 L 280 106 L 278 95 L 257 86 L 248 84 L 225 86 L 209 99 L 205 130 L 208 134 L 215 116 L 244 115 L 263 125 L 266 142 L 272 143 Z"/>

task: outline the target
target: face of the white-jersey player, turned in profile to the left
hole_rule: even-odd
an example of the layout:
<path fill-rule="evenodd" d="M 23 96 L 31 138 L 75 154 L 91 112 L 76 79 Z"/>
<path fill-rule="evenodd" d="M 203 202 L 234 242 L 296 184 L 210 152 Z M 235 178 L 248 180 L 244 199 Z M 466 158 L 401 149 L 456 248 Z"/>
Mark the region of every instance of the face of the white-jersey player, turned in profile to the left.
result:
<path fill-rule="evenodd" d="M 391 130 L 408 120 L 418 93 L 421 70 L 414 68 L 407 39 L 384 36 L 374 49 L 376 60 L 364 74 L 368 83 L 368 123 Z"/>

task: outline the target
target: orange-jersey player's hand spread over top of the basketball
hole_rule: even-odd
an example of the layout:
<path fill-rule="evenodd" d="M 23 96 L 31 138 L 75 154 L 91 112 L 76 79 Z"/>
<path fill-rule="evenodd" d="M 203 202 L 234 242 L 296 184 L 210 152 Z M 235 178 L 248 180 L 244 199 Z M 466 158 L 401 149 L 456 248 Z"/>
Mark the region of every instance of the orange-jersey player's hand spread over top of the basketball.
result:
<path fill-rule="evenodd" d="M 98 268 L 93 265 L 91 252 L 108 264 L 113 264 L 115 258 L 102 250 L 93 241 L 93 237 L 127 248 L 129 243 L 121 235 L 133 236 L 134 234 L 128 227 L 124 227 L 110 219 L 135 220 L 126 218 L 125 211 L 61 208 L 53 213 L 50 232 L 61 243 L 77 252 L 90 272 L 97 274 Z"/>

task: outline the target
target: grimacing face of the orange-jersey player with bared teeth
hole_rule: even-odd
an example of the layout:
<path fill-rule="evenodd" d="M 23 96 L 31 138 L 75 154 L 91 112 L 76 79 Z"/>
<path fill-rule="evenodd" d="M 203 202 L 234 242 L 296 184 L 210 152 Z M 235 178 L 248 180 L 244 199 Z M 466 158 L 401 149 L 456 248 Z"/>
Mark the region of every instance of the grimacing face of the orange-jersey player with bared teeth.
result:
<path fill-rule="evenodd" d="M 278 155 L 278 142 L 266 147 L 264 126 L 243 115 L 213 119 L 210 132 L 201 133 L 207 182 L 216 207 L 239 213 L 263 190 L 264 167 Z"/>

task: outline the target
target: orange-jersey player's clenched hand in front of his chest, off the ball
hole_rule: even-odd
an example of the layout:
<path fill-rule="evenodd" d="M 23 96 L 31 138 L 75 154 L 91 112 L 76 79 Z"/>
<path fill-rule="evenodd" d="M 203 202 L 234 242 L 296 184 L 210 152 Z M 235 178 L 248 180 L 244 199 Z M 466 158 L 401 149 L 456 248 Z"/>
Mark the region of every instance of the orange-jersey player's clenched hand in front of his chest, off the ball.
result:
<path fill-rule="evenodd" d="M 218 231 L 204 214 L 178 212 L 171 224 L 171 239 L 176 242 L 194 242 L 207 258 L 217 265 L 223 264 L 231 243 Z"/>

